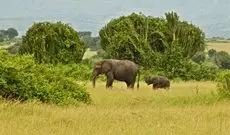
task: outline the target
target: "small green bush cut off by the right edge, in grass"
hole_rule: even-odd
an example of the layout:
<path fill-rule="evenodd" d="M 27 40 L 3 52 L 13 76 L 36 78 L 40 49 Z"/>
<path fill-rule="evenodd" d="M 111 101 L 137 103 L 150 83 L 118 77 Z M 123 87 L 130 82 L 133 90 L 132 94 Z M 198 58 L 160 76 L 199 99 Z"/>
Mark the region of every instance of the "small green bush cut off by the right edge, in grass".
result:
<path fill-rule="evenodd" d="M 221 71 L 217 76 L 217 88 L 221 98 L 230 98 L 230 71 Z"/>

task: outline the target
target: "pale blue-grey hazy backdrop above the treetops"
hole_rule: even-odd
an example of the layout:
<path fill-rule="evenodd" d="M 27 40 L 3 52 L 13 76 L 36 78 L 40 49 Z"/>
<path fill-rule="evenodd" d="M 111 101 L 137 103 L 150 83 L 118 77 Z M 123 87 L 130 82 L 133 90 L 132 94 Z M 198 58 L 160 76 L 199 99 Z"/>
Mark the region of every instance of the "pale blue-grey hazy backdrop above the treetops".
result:
<path fill-rule="evenodd" d="M 77 31 L 92 31 L 94 36 L 111 18 L 142 12 L 164 17 L 175 11 L 181 20 L 199 26 L 206 37 L 230 37 L 228 0 L 4 0 L 0 5 L 0 29 L 16 28 L 20 35 L 38 21 L 62 21 Z"/>

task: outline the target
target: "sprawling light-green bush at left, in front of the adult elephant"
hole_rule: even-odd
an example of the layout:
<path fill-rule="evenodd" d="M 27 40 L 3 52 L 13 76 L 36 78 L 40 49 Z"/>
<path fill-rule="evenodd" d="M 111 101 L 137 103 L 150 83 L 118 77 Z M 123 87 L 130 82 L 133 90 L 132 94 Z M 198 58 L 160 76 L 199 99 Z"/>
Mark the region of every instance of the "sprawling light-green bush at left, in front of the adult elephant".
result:
<path fill-rule="evenodd" d="M 88 71 L 88 68 L 77 64 L 36 64 L 31 56 L 8 56 L 1 51 L 0 95 L 6 99 L 36 99 L 58 105 L 90 103 L 91 98 L 85 86 L 76 82 L 76 79 L 89 78 L 89 73 L 83 76 L 82 72 Z"/>

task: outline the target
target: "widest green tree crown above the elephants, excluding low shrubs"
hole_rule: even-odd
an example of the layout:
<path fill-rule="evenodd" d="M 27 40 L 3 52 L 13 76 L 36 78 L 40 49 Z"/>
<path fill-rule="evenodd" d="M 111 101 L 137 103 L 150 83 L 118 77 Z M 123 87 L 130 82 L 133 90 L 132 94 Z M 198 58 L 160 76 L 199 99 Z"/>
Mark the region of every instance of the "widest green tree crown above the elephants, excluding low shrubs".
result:
<path fill-rule="evenodd" d="M 204 51 L 204 33 L 199 27 L 180 21 L 175 12 L 166 13 L 165 17 L 132 13 L 112 19 L 99 32 L 101 47 L 110 58 L 144 65 L 153 61 L 156 54 L 170 54 L 172 49 L 179 49 L 188 58 Z"/>

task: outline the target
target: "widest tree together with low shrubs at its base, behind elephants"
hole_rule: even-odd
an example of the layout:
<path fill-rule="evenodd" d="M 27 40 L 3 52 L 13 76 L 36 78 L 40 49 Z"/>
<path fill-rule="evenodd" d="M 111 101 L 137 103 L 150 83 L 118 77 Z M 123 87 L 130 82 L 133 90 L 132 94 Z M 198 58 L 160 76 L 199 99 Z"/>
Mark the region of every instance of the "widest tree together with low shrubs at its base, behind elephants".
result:
<path fill-rule="evenodd" d="M 135 13 L 121 16 L 112 19 L 99 35 L 105 58 L 129 59 L 169 78 L 215 78 L 216 66 L 201 64 L 205 59 L 201 55 L 205 50 L 204 32 L 180 21 L 175 12 L 166 13 L 165 18 Z M 203 75 L 194 76 L 196 73 Z"/>

